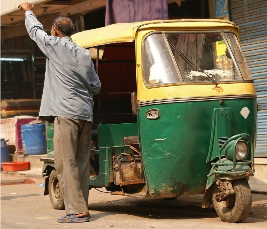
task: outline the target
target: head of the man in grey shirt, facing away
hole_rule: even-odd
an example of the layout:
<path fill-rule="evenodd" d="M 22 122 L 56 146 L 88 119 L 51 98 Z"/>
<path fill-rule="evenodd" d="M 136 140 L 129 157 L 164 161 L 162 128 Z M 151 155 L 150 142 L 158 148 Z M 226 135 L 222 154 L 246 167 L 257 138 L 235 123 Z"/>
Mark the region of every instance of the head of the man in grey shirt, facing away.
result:
<path fill-rule="evenodd" d="M 70 37 L 73 31 L 73 22 L 70 18 L 59 16 L 52 25 L 51 35 L 55 37 Z"/>

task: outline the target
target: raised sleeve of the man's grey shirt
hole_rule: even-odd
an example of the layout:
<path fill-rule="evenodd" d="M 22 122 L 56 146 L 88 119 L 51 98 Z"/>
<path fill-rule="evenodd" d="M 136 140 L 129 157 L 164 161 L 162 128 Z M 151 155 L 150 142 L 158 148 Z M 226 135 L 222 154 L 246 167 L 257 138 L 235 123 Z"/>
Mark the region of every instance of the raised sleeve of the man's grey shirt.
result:
<path fill-rule="evenodd" d="M 51 35 L 48 35 L 42 24 L 37 20 L 36 16 L 33 14 L 33 11 L 28 10 L 25 12 L 25 25 L 26 29 L 30 35 L 30 38 L 36 42 L 41 51 L 48 56 L 51 40 Z"/>

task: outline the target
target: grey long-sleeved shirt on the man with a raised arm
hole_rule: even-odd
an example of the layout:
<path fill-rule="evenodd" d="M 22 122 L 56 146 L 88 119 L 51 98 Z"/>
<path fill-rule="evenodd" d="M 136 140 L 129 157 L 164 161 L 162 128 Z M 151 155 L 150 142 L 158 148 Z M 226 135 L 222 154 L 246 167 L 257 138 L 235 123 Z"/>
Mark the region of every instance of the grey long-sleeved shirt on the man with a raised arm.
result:
<path fill-rule="evenodd" d="M 45 82 L 39 117 L 54 116 L 93 121 L 93 95 L 100 92 L 90 52 L 70 37 L 48 35 L 32 11 L 26 11 L 26 29 L 46 55 Z"/>

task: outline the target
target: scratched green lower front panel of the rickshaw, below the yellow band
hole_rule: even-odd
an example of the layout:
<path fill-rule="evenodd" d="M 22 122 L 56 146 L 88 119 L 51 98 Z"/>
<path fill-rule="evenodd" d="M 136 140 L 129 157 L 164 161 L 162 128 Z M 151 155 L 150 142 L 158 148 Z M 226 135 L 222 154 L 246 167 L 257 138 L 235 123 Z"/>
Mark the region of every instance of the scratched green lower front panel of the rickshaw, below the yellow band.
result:
<path fill-rule="evenodd" d="M 208 100 L 139 107 L 141 155 L 152 197 L 205 192 L 207 174 L 211 169 L 206 159 L 216 107 L 232 110 L 231 123 L 225 129 L 227 132 L 232 135 L 248 133 L 254 141 L 256 99 L 227 99 L 223 104 L 219 100 Z M 247 119 L 240 114 L 243 107 L 251 111 Z M 147 119 L 146 112 L 152 108 L 160 111 L 159 119 Z"/>

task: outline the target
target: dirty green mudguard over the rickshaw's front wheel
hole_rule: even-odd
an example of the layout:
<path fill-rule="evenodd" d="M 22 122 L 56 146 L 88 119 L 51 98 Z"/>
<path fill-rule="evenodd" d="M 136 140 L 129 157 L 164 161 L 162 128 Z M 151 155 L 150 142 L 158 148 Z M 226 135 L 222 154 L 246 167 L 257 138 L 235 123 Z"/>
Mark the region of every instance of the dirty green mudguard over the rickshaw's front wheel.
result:
<path fill-rule="evenodd" d="M 223 158 L 222 163 L 231 163 L 232 161 Z M 202 200 L 202 208 L 212 207 L 212 192 L 211 192 L 211 185 L 216 182 L 217 180 L 224 179 L 224 180 L 235 180 L 235 179 L 242 179 L 246 178 L 249 180 L 249 176 L 254 176 L 254 169 L 251 169 L 249 165 L 237 165 L 236 172 L 233 173 L 233 165 L 213 165 L 210 173 L 208 175 L 208 180 L 206 184 L 206 191 L 203 196 Z M 220 173 L 216 173 L 219 171 Z"/>

